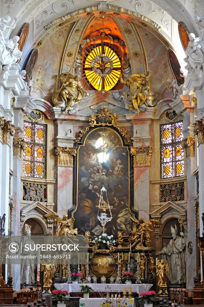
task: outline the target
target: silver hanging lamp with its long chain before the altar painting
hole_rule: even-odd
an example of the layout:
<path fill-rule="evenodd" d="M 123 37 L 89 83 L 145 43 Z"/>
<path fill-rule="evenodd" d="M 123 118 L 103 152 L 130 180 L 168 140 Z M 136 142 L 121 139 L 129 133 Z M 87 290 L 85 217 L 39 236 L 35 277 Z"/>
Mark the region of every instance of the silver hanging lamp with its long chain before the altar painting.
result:
<path fill-rule="evenodd" d="M 104 28 L 104 6 L 103 6 L 103 16 L 102 16 L 102 26 Z M 102 48 L 104 45 L 104 40 L 102 38 Z M 103 73 L 104 73 L 104 68 L 103 68 Z M 104 108 L 104 85 L 102 85 L 101 88 L 101 94 L 102 94 L 102 98 L 103 98 L 103 108 Z M 100 190 L 100 200 L 99 200 L 99 206 L 98 206 L 98 214 L 97 214 L 97 219 L 100 221 L 101 226 L 103 227 L 103 233 L 105 232 L 105 225 L 106 223 L 110 222 L 112 220 L 112 212 L 111 212 L 111 208 L 108 202 L 108 195 L 107 195 L 107 190 L 104 187 L 104 126 L 103 126 L 103 187 Z M 106 199 L 107 199 L 107 206 L 103 206 L 103 194 L 105 193 L 106 195 Z M 108 209 L 110 216 L 108 216 L 108 214 L 106 213 L 106 209 Z"/>

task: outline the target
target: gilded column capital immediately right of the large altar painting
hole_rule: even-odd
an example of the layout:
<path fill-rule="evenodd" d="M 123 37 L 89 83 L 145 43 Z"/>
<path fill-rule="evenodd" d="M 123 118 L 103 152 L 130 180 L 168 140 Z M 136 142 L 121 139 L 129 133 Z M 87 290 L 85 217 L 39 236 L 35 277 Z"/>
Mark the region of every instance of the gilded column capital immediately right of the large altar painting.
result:
<path fill-rule="evenodd" d="M 134 156 L 134 166 L 150 166 L 152 154 L 151 146 L 130 147 L 130 153 Z"/>

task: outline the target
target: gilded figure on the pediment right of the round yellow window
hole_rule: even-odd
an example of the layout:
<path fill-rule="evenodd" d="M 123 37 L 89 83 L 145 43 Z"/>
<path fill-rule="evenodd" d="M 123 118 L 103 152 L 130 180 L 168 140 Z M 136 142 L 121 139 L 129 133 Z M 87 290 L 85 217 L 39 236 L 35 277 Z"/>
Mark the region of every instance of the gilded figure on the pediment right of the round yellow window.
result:
<path fill-rule="evenodd" d="M 133 74 L 131 75 L 126 81 L 122 78 L 122 75 L 120 75 L 120 83 L 127 85 L 127 87 L 130 89 L 130 93 L 123 92 L 123 95 L 125 99 L 131 101 L 131 104 L 129 104 L 128 109 L 130 111 L 134 110 L 134 108 L 137 110 L 137 115 L 139 115 L 139 106 L 142 106 L 143 103 L 148 107 L 149 105 L 146 102 L 147 99 L 147 93 L 145 90 L 147 90 L 148 94 L 150 94 L 151 90 L 149 86 L 145 86 L 146 82 L 148 81 L 151 73 L 147 72 L 145 74 Z"/>

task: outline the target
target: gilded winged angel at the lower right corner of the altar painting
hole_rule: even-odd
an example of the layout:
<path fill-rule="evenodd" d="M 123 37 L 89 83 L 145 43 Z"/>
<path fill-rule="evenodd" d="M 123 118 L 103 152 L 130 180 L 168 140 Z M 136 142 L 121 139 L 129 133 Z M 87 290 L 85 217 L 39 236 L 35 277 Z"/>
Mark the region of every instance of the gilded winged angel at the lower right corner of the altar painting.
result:
<path fill-rule="evenodd" d="M 129 218 L 133 221 L 133 223 L 136 226 L 136 230 L 132 230 L 129 233 L 129 241 L 135 242 L 137 239 L 140 239 L 139 245 L 144 246 L 144 244 L 149 245 L 150 244 L 150 234 L 148 231 L 154 231 L 154 229 L 151 229 L 150 227 L 152 225 L 161 225 L 161 223 L 157 220 L 149 220 L 147 222 L 144 222 L 144 219 L 137 220 L 135 217 L 129 216 Z"/>

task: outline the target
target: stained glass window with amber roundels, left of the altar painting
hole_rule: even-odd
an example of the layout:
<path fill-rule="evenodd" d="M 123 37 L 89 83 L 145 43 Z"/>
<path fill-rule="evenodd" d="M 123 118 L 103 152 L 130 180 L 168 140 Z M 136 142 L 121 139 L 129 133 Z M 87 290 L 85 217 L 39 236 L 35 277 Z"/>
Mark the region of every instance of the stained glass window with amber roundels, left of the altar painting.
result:
<path fill-rule="evenodd" d="M 45 178 L 46 125 L 24 122 L 23 175 Z"/>

